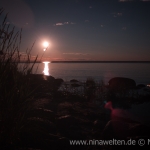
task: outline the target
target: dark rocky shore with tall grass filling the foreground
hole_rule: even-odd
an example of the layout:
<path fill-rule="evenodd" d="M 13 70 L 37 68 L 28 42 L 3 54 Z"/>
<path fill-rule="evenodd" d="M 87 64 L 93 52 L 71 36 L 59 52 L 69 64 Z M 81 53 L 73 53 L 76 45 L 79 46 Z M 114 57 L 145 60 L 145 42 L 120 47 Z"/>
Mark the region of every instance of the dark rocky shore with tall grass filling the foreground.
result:
<path fill-rule="evenodd" d="M 27 63 L 19 67 L 21 32 L 15 33 L 6 19 L 0 27 L 0 149 L 128 149 L 139 146 L 116 147 L 100 140 L 150 138 L 148 123 L 120 116 L 132 104 L 149 102 L 149 94 L 134 92 L 148 90 L 145 85 L 137 86 L 127 78 L 114 78 L 104 85 L 93 79 L 65 83 L 34 75 L 36 59 L 30 64 L 30 49 L 24 57 Z M 87 143 L 71 145 L 70 140 Z"/>

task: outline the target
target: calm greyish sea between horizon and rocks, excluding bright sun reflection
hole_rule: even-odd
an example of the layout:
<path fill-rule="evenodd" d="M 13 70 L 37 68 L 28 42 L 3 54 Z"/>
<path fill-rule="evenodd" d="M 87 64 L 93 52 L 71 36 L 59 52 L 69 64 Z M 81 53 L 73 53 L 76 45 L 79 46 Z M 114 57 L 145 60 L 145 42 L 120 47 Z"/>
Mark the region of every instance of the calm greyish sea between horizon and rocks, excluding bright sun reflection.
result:
<path fill-rule="evenodd" d="M 93 78 L 107 84 L 113 77 L 127 77 L 137 84 L 150 84 L 150 63 L 49 63 L 48 66 L 51 76 L 64 81 Z M 33 73 L 42 74 L 43 70 L 44 63 L 36 64 Z"/>

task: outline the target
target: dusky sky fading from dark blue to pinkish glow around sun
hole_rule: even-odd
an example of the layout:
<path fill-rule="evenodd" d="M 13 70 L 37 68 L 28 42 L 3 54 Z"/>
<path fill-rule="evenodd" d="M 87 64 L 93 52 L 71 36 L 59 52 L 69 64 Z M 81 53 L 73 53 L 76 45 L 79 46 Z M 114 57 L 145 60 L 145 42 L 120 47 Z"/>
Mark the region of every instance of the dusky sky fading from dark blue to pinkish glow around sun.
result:
<path fill-rule="evenodd" d="M 150 61 L 150 0 L 0 0 L 23 28 L 21 51 L 45 60 Z"/>

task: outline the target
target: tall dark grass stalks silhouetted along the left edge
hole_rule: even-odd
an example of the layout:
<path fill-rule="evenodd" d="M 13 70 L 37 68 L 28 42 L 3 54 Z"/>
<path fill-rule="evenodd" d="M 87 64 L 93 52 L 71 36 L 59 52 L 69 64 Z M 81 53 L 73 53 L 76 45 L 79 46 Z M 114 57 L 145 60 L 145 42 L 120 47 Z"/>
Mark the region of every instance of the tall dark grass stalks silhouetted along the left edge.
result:
<path fill-rule="evenodd" d="M 0 9 L 0 18 L 3 9 Z M 21 56 L 22 30 L 7 24 L 7 15 L 0 24 L 0 149 L 4 145 L 14 144 L 27 123 L 27 116 L 33 104 L 33 90 L 29 76 L 34 63 L 31 64 L 31 49 L 24 55 L 22 69 L 19 69 Z"/>

